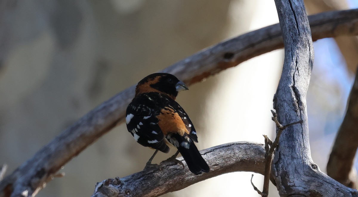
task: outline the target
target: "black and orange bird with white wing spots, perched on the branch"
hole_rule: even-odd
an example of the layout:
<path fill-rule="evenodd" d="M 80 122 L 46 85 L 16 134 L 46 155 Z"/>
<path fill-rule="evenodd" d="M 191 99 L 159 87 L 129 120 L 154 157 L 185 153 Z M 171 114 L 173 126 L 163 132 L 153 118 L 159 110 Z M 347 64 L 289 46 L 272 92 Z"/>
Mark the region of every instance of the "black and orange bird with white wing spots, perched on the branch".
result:
<path fill-rule="evenodd" d="M 155 149 L 145 169 L 153 167 L 151 162 L 158 151 L 169 153 L 171 144 L 178 150 L 168 161 L 176 160 L 180 152 L 193 174 L 209 172 L 207 162 L 194 144 L 198 142 L 194 125 L 175 101 L 178 92 L 184 90 L 188 90 L 184 82 L 168 73 L 148 75 L 136 86 L 135 96 L 126 110 L 126 125 L 136 142 Z"/>

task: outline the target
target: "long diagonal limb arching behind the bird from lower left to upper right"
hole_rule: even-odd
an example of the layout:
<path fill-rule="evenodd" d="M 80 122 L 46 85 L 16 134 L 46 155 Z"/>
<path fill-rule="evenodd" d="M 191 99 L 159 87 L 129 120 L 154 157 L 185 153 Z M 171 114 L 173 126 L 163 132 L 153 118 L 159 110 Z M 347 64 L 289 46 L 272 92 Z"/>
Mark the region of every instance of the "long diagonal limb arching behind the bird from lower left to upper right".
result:
<path fill-rule="evenodd" d="M 314 40 L 340 35 L 358 35 L 358 9 L 311 16 Z M 283 46 L 278 24 L 224 41 L 166 68 L 188 85 L 199 82 L 252 57 Z M 64 130 L 0 182 L 0 197 L 32 195 L 37 188 L 97 138 L 123 121 L 134 96 L 130 87 L 88 112 Z"/>

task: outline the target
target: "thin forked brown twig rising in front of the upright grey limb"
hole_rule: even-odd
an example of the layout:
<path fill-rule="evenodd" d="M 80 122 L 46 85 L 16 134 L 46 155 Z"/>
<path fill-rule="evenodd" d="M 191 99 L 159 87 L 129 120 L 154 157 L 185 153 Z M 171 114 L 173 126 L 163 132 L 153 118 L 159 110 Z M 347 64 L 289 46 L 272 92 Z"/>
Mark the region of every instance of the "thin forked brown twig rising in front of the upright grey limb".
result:
<path fill-rule="evenodd" d="M 275 148 L 277 147 L 277 145 L 279 144 L 280 141 L 280 136 L 282 131 L 284 131 L 285 128 L 298 124 L 298 123 L 302 123 L 303 121 L 297 121 L 297 122 L 292 122 L 289 123 L 287 125 L 281 125 L 281 123 L 277 120 L 277 113 L 274 112 L 273 110 L 271 110 L 272 113 L 272 120 L 276 123 L 276 127 L 277 127 L 277 133 L 276 133 L 276 138 L 275 141 L 272 142 L 269 137 L 267 137 L 267 135 L 263 135 L 263 137 L 265 138 L 265 151 L 266 151 L 266 165 L 265 165 L 265 174 L 264 174 L 264 178 L 263 178 L 263 190 L 262 190 L 262 197 L 266 197 L 269 195 L 269 183 L 270 183 L 270 175 L 271 175 L 271 163 L 272 163 L 272 155 L 275 151 Z M 270 145 L 270 148 L 269 148 Z M 252 179 L 252 177 L 251 177 Z M 252 183 L 252 181 L 251 181 Z M 254 188 L 255 189 L 255 188 Z M 260 193 L 259 193 L 260 194 Z"/>

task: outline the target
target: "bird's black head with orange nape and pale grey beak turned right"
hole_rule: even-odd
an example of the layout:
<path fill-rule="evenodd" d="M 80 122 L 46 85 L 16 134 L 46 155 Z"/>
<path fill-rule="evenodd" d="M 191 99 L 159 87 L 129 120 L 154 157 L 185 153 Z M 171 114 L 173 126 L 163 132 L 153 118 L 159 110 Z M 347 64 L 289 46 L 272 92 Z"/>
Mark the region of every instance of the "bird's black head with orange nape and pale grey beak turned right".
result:
<path fill-rule="evenodd" d="M 154 73 L 144 77 L 136 86 L 136 96 L 145 92 L 159 92 L 175 99 L 179 91 L 188 90 L 188 87 L 168 73 Z"/>

